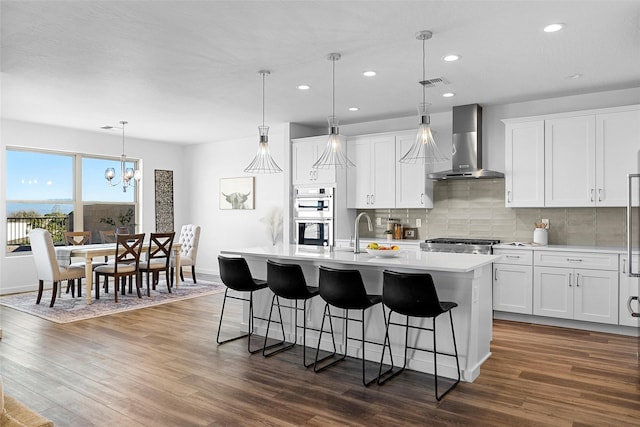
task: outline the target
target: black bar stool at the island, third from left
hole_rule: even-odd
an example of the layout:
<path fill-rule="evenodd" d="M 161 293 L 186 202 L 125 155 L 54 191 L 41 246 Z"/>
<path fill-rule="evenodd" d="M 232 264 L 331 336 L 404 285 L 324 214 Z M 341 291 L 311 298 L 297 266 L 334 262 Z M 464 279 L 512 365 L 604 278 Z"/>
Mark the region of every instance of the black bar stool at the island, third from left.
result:
<path fill-rule="evenodd" d="M 367 308 L 373 307 L 374 305 L 382 302 L 381 295 L 367 295 L 367 291 L 364 287 L 364 283 L 362 282 L 362 276 L 358 270 L 337 270 L 329 267 L 320 267 L 319 269 L 319 287 L 320 287 L 320 296 L 325 301 L 324 312 L 322 314 L 322 325 L 320 326 L 320 336 L 318 337 L 318 348 L 316 350 L 316 361 L 313 366 L 313 370 L 315 372 L 320 372 L 330 366 L 335 365 L 336 363 L 344 360 L 347 357 L 347 345 L 349 340 L 359 340 L 362 342 L 362 384 L 365 386 L 370 385 L 374 381 L 378 379 L 380 373 L 374 377 L 373 379 L 367 381 L 365 379 L 365 343 L 369 344 L 377 344 L 384 345 L 385 343 L 378 343 L 374 341 L 368 341 L 365 339 L 365 322 L 364 322 L 364 312 Z M 332 315 L 330 306 L 341 308 L 345 310 L 344 316 Z M 362 312 L 361 319 L 353 319 L 349 317 L 349 310 L 360 310 Z M 332 317 L 343 319 L 344 320 L 344 354 L 340 355 L 341 357 L 337 360 L 334 360 L 324 366 L 319 367 L 318 362 L 318 354 L 320 352 L 320 342 L 322 341 L 322 333 L 324 332 L 324 319 L 329 317 L 329 327 L 331 329 L 331 340 L 333 341 L 333 353 L 329 355 L 336 356 L 338 352 L 336 350 L 336 341 L 333 334 L 333 323 L 331 321 Z M 382 310 L 382 316 L 384 318 L 385 324 L 387 319 L 384 314 L 384 309 Z M 362 324 L 362 339 L 359 338 L 351 338 L 349 337 L 349 321 L 361 322 Z M 384 352 L 383 352 L 384 354 Z M 391 371 L 389 368 L 388 373 Z"/>

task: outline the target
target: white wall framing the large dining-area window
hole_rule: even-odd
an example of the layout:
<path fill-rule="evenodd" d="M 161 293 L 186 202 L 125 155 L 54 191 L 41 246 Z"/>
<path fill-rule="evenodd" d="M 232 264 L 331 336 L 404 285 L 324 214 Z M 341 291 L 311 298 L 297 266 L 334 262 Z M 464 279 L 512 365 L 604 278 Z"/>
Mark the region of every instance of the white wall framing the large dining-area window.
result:
<path fill-rule="evenodd" d="M 155 231 L 154 170 L 173 170 L 174 219 L 176 229 L 191 221 L 191 212 L 185 208 L 190 192 L 183 167 L 184 147 L 157 141 L 126 138 L 128 157 L 142 159 L 142 194 L 140 230 Z M 121 135 L 117 132 L 97 130 L 87 132 L 55 126 L 2 120 L 0 132 L 0 218 L 6 224 L 5 152 L 7 146 L 19 146 L 55 150 L 61 152 L 97 154 L 119 157 L 122 151 Z M 104 171 L 96 171 L 103 175 Z M 106 183 L 105 183 L 106 185 Z M 114 187 L 113 191 L 122 191 Z M 31 255 L 7 255 L 6 225 L 0 227 L 0 243 L 3 245 L 0 258 L 0 294 L 37 289 L 37 279 Z"/>

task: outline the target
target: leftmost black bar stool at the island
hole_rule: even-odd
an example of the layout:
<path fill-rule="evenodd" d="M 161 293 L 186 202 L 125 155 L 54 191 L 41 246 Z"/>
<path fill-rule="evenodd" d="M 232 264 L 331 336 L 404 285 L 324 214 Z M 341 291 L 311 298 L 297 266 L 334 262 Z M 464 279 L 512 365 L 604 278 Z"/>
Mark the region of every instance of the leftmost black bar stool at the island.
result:
<path fill-rule="evenodd" d="M 216 342 L 218 344 L 225 344 L 240 338 L 249 337 L 249 339 L 247 340 L 247 350 L 251 354 L 257 353 L 262 350 L 262 346 L 256 349 L 251 349 L 251 336 L 253 335 L 254 323 L 253 293 L 255 291 L 259 291 L 260 289 L 267 288 L 267 282 L 260 279 L 254 279 L 251 276 L 251 271 L 249 270 L 247 261 L 244 258 L 230 258 L 218 255 L 218 265 L 220 266 L 220 279 L 222 279 L 222 283 L 227 286 L 227 289 L 224 291 L 224 300 L 222 301 L 222 312 L 220 313 L 220 323 L 218 324 L 218 335 L 216 336 Z M 237 292 L 249 292 L 249 298 L 228 295 L 229 289 Z M 220 341 L 220 330 L 222 329 L 222 318 L 224 317 L 224 306 L 227 302 L 227 298 L 249 302 L 249 332 L 234 338 Z M 266 320 L 262 318 L 259 319 Z"/>

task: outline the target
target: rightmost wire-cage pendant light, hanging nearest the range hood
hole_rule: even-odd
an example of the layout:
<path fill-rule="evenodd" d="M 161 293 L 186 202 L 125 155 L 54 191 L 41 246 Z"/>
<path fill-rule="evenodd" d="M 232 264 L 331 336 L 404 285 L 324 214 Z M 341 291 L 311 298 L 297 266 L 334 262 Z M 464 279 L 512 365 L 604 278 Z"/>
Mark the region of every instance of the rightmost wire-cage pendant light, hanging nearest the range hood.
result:
<path fill-rule="evenodd" d="M 443 156 L 433 140 L 431 134 L 431 128 L 429 127 L 429 114 L 427 113 L 427 107 L 429 104 L 426 102 L 426 86 L 429 84 L 426 77 L 426 60 L 425 60 L 425 42 L 431 38 L 433 33 L 431 31 L 420 31 L 416 34 L 416 39 L 422 40 L 422 103 L 418 105 L 418 115 L 420 116 L 420 126 L 418 127 L 418 134 L 416 135 L 416 141 L 413 143 L 409 151 L 405 153 L 399 160 L 401 163 L 422 163 L 425 166 L 432 166 L 436 163 L 442 163 L 449 160 L 446 156 Z"/>

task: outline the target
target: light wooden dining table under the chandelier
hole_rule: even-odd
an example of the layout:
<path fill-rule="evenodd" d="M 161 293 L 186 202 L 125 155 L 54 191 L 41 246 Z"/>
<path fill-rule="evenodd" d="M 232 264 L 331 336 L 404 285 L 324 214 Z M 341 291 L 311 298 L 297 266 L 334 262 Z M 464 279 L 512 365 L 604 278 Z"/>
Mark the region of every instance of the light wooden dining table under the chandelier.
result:
<path fill-rule="evenodd" d="M 154 246 L 151 245 L 153 249 Z M 175 258 L 175 284 L 176 288 L 180 283 L 180 251 L 182 249 L 182 243 L 174 242 L 171 246 L 171 251 Z M 91 304 L 91 289 L 93 287 L 93 259 L 96 257 L 108 257 L 115 255 L 116 244 L 115 243 L 98 243 L 91 245 L 75 245 L 75 246 L 58 246 L 55 248 L 58 264 L 68 265 L 71 261 L 71 257 L 84 258 L 85 262 L 85 275 L 86 275 L 86 295 L 87 304 Z M 142 245 L 142 253 L 149 252 L 149 242 L 145 242 Z"/>

